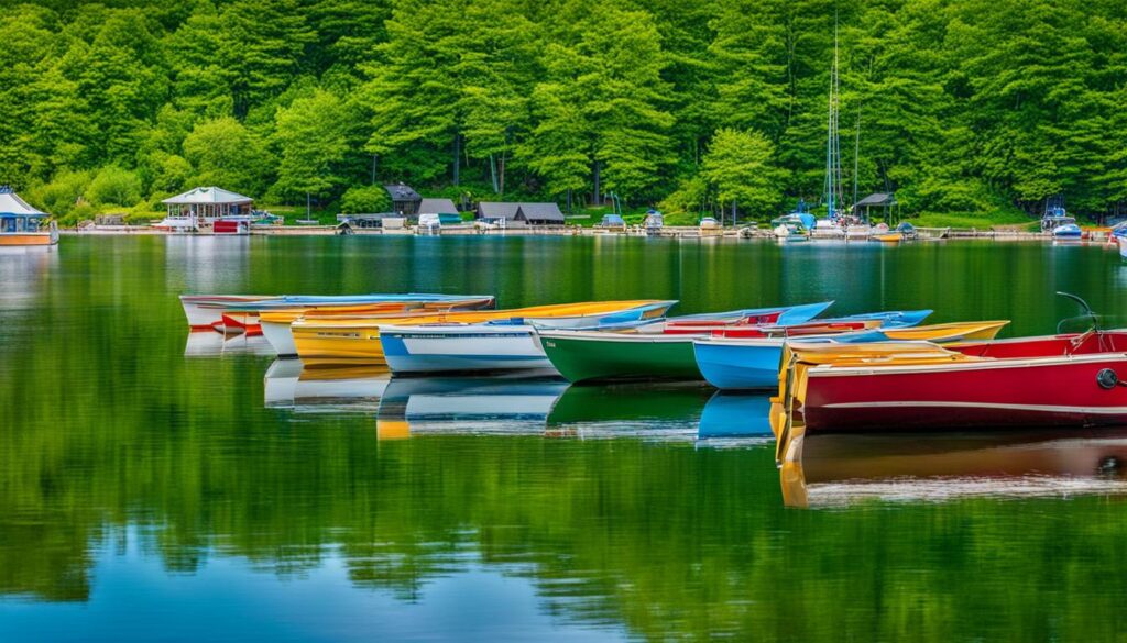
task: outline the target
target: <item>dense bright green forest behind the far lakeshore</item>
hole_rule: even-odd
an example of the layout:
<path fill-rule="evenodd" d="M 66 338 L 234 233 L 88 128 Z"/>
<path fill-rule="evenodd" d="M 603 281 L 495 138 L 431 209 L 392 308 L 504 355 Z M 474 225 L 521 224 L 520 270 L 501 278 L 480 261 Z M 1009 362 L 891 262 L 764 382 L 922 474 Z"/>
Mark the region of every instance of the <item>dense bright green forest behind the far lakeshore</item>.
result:
<path fill-rule="evenodd" d="M 367 212 L 615 195 L 1127 209 L 1121 0 L 0 0 L 0 182 L 77 221 L 216 185 Z"/>

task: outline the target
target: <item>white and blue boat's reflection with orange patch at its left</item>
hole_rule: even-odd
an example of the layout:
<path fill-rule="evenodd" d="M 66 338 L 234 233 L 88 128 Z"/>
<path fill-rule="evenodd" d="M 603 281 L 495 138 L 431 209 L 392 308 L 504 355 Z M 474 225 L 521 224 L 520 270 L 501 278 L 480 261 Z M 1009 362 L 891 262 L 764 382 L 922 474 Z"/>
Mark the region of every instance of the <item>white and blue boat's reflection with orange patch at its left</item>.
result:
<path fill-rule="evenodd" d="M 541 435 L 567 382 L 551 372 L 396 377 L 376 416 L 380 439 L 419 434 Z"/>

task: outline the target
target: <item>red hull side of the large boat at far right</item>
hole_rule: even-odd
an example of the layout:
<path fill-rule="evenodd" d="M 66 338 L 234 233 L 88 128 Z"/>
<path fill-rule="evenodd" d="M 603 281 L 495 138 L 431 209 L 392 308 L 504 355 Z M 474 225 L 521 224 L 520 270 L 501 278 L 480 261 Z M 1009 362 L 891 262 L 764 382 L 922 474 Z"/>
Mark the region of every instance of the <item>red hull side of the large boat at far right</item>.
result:
<path fill-rule="evenodd" d="M 1104 369 L 1127 375 L 1127 355 L 814 368 L 802 423 L 807 434 L 1127 425 L 1127 387 L 1101 386 Z"/>

